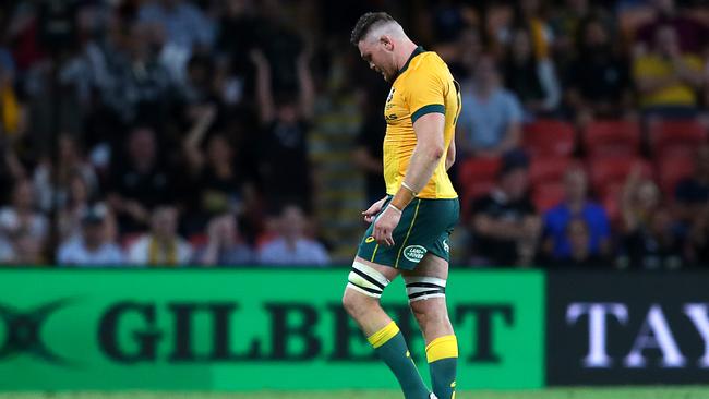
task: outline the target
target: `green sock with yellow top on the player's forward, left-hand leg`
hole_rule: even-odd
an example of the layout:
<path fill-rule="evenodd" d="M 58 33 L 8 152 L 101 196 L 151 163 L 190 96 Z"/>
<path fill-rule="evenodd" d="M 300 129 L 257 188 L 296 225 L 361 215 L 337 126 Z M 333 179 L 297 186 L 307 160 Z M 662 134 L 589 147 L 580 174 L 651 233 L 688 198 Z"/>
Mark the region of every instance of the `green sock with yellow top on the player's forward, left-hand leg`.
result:
<path fill-rule="evenodd" d="M 406 340 L 396 323 L 392 322 L 368 338 L 376 353 L 392 368 L 399 380 L 406 399 L 429 399 L 429 388 L 423 384 Z"/>

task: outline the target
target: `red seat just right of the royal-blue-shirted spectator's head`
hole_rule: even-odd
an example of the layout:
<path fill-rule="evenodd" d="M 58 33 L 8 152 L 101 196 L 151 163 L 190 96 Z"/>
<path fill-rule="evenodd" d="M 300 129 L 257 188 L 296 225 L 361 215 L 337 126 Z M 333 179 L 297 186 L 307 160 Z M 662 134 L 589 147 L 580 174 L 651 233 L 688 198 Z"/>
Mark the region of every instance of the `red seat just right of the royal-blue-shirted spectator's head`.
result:
<path fill-rule="evenodd" d="M 652 169 L 650 165 L 641 158 L 591 158 L 589 159 L 589 176 L 591 186 L 599 195 L 604 198 L 609 189 L 623 184 L 636 165 L 640 165 L 644 174 L 651 177 Z"/>

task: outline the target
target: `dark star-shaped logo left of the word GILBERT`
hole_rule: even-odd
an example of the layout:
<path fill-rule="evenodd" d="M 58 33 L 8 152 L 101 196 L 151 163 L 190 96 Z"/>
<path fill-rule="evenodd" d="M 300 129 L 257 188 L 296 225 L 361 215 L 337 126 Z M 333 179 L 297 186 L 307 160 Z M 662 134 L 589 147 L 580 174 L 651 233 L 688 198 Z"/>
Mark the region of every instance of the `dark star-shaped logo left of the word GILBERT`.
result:
<path fill-rule="evenodd" d="M 49 316 L 64 307 L 71 300 L 57 300 L 27 312 L 0 304 L 0 318 L 5 325 L 4 340 L 0 340 L 0 360 L 26 353 L 48 363 L 68 364 L 69 361 L 53 353 L 41 338 L 41 327 Z"/>

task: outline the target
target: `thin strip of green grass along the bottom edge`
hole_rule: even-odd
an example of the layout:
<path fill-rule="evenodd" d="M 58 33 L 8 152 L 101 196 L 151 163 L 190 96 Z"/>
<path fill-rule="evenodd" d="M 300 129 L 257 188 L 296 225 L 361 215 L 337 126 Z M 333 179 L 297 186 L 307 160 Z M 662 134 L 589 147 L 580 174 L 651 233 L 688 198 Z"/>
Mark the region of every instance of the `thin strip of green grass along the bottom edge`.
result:
<path fill-rule="evenodd" d="M 707 399 L 709 387 L 576 388 L 537 391 L 461 391 L 456 399 Z M 401 399 L 396 391 L 308 391 L 254 394 L 64 392 L 0 394 L 0 399 Z"/>

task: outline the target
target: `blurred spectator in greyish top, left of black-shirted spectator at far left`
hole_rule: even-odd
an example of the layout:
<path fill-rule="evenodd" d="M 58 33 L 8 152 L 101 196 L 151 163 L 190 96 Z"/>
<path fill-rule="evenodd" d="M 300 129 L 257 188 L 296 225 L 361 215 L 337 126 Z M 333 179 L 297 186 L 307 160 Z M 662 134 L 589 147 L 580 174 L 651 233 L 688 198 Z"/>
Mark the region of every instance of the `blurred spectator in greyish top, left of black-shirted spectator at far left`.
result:
<path fill-rule="evenodd" d="M 35 169 L 33 177 L 34 188 L 37 192 L 38 205 L 43 211 L 50 211 L 55 207 L 67 204 L 71 189 L 70 180 L 74 174 L 80 174 L 86 183 L 87 194 L 98 190 L 98 179 L 92 166 L 84 160 L 79 143 L 75 138 L 62 134 L 58 140 L 59 149 L 57 161 L 59 164 L 57 176 L 52 176 L 52 160 L 44 159 Z M 56 182 L 53 179 L 57 179 Z M 55 183 L 58 184 L 55 188 Z"/>

